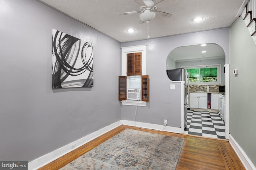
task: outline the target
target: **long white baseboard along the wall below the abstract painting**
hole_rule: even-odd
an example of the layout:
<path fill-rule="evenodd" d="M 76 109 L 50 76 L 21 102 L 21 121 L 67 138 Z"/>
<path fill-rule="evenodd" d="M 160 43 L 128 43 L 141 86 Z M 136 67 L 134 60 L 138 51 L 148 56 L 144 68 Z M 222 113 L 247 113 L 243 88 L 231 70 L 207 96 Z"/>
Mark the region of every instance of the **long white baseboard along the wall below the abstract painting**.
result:
<path fill-rule="evenodd" d="M 74 149 L 77 149 L 78 147 L 92 141 L 93 139 L 103 135 L 104 133 L 107 133 L 108 131 L 111 131 L 112 129 L 122 125 L 122 121 L 117 121 L 116 123 L 113 123 L 111 125 L 108 125 L 94 133 L 91 133 L 85 137 L 82 137 L 81 139 L 78 139 L 77 141 L 74 141 L 64 147 L 61 147 L 59 149 L 56 149 L 44 156 L 41 156 L 40 158 L 37 158 L 31 162 L 28 162 L 28 170 L 36 170 L 38 168 L 41 168 L 42 166 L 60 158 L 64 154 L 67 154 L 68 152 L 71 152 Z M 76 144 L 76 147 L 71 149 L 71 145 Z"/>

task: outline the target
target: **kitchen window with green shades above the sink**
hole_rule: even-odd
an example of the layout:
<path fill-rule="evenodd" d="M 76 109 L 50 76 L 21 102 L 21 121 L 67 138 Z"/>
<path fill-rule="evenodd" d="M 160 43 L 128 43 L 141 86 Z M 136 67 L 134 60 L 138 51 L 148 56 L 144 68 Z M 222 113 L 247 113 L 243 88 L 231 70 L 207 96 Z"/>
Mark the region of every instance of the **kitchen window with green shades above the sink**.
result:
<path fill-rule="evenodd" d="M 220 64 L 186 67 L 190 84 L 221 84 Z"/>

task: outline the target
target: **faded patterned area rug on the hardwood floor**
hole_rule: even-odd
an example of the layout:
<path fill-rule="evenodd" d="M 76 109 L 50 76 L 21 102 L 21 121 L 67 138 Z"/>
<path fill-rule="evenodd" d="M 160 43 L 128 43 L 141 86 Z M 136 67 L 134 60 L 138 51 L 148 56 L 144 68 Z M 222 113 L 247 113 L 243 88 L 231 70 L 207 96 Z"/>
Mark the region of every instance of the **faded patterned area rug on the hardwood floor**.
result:
<path fill-rule="evenodd" d="M 183 138 L 126 129 L 60 170 L 175 170 Z"/>

